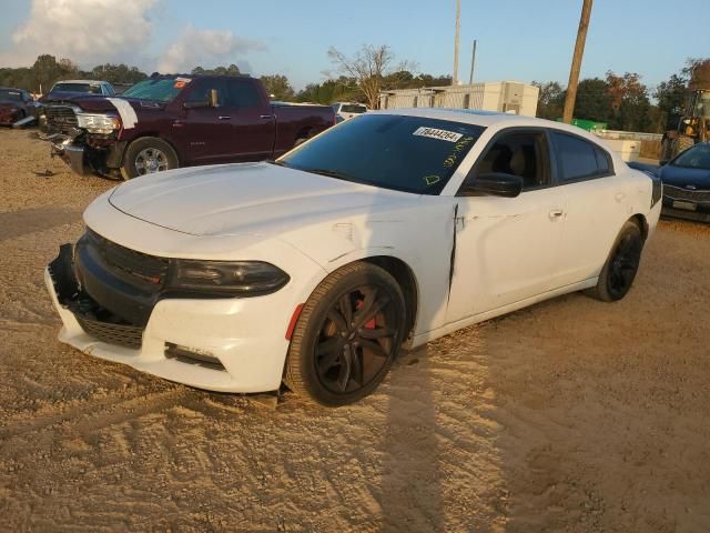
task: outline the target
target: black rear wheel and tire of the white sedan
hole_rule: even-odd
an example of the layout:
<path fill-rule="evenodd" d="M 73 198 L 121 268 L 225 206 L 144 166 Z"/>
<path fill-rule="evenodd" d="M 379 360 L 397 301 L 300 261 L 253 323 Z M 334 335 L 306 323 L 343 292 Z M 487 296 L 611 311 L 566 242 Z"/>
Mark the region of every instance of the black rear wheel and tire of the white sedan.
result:
<path fill-rule="evenodd" d="M 642 249 L 643 237 L 640 228 L 627 221 L 611 247 L 611 253 L 601 269 L 597 286 L 587 290 L 587 295 L 602 302 L 616 302 L 626 296 L 638 272 Z"/>

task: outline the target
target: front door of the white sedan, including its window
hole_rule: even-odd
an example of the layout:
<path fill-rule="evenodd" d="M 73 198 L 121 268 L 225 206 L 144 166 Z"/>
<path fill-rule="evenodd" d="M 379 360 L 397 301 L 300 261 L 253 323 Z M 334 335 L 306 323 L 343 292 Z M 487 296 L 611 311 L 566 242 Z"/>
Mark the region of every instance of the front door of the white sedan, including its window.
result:
<path fill-rule="evenodd" d="M 552 187 L 542 130 L 499 133 L 473 169 L 524 180 L 517 198 L 460 197 L 447 322 L 545 293 L 551 289 L 562 235 L 564 195 Z"/>

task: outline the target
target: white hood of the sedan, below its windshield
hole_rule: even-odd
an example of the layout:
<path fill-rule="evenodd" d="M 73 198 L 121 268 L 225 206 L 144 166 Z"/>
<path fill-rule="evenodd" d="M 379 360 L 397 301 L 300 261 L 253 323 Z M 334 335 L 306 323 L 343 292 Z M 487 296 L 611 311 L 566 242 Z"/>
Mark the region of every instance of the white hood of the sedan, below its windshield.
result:
<path fill-rule="evenodd" d="M 109 202 L 131 217 L 192 235 L 264 235 L 417 199 L 275 164 L 242 163 L 136 178 L 118 187 Z"/>

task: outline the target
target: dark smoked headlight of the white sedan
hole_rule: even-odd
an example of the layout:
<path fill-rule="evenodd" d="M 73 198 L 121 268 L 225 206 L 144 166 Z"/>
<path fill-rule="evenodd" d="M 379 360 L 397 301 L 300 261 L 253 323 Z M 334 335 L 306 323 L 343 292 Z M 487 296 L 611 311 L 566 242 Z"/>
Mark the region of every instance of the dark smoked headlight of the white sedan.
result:
<path fill-rule="evenodd" d="M 170 289 L 215 294 L 258 295 L 275 292 L 288 275 L 263 261 L 192 261 L 175 260 Z"/>

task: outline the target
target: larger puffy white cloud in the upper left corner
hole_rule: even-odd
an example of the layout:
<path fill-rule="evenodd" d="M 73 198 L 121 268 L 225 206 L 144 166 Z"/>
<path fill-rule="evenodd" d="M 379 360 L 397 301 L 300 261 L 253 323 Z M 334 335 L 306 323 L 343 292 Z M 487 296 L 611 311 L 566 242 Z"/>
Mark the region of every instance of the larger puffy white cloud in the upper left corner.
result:
<path fill-rule="evenodd" d="M 12 34 L 4 64 L 32 64 L 40 53 L 79 64 L 129 60 L 152 37 L 148 12 L 156 0 L 32 0 L 29 19 Z"/>

